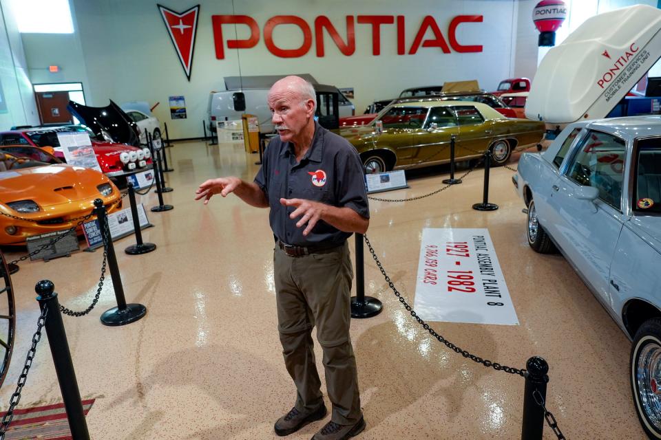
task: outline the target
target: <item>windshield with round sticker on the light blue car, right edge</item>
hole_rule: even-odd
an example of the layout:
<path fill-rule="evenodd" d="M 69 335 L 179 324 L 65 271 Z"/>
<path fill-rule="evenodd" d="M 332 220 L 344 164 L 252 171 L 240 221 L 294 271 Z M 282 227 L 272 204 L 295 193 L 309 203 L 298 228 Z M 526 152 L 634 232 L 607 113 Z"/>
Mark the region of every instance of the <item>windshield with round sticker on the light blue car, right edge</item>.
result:
<path fill-rule="evenodd" d="M 636 197 L 633 211 L 638 214 L 661 212 L 661 137 L 638 140 L 636 157 Z"/>

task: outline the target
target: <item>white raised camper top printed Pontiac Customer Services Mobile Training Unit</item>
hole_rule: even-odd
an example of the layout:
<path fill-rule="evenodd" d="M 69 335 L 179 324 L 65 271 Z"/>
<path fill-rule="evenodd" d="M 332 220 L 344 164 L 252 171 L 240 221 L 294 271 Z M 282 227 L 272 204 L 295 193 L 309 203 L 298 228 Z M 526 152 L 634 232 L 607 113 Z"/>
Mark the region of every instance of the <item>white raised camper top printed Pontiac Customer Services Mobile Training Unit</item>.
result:
<path fill-rule="evenodd" d="M 634 5 L 587 19 L 540 63 L 525 104 L 532 120 L 604 118 L 661 56 L 661 10 Z"/>

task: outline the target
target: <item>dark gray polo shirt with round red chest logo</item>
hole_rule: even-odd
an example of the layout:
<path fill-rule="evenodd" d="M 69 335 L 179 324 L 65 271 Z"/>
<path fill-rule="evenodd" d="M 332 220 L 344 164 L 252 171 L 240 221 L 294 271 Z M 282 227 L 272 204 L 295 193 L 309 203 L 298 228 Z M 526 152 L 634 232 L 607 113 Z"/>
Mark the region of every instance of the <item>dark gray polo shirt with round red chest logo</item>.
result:
<path fill-rule="evenodd" d="M 342 244 L 351 234 L 319 220 L 308 234 L 296 227 L 301 217 L 290 219 L 295 207 L 282 206 L 280 198 L 307 199 L 355 210 L 370 217 L 363 167 L 356 149 L 344 137 L 331 133 L 315 122 L 315 136 L 300 163 L 294 146 L 273 137 L 264 152 L 262 168 L 255 183 L 269 199 L 269 222 L 273 234 L 290 245 Z"/>

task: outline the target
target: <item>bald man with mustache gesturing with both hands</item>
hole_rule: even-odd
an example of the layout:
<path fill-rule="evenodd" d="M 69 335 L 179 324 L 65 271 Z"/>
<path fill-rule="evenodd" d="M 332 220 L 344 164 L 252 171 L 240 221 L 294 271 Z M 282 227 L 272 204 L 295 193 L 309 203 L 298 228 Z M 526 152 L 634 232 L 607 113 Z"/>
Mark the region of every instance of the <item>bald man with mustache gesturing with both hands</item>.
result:
<path fill-rule="evenodd" d="M 207 180 L 196 200 L 206 204 L 214 194 L 234 192 L 251 206 L 270 208 L 278 332 L 297 391 L 275 433 L 292 434 L 326 416 L 311 336 L 316 326 L 333 410 L 313 440 L 349 439 L 365 428 L 349 336 L 353 270 L 346 243 L 369 225 L 363 168 L 349 142 L 315 122 L 310 83 L 283 78 L 271 87 L 268 102 L 279 136 L 266 148 L 255 180 Z"/>

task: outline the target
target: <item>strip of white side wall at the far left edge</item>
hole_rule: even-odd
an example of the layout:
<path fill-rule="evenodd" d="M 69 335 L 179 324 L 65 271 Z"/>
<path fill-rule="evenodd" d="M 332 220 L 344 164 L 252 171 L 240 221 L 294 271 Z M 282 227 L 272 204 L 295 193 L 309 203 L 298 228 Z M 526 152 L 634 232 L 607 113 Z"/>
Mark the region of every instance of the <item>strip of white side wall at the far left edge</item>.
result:
<path fill-rule="evenodd" d="M 0 0 L 0 84 L 8 109 L 0 113 L 0 130 L 39 123 L 21 34 L 15 23 L 8 3 Z"/>

